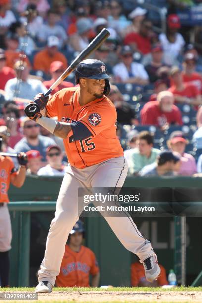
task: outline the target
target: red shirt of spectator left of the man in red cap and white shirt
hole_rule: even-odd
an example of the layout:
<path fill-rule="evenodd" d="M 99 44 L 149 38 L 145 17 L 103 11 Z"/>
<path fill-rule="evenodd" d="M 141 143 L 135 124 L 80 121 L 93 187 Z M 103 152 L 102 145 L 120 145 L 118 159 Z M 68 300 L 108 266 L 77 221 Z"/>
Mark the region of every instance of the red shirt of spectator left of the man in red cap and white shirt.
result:
<path fill-rule="evenodd" d="M 131 43 L 135 43 L 137 45 L 137 49 L 142 54 L 148 54 L 151 52 L 151 42 L 147 37 L 143 37 L 138 33 L 130 33 L 126 35 L 124 39 L 125 45 L 130 45 Z"/>

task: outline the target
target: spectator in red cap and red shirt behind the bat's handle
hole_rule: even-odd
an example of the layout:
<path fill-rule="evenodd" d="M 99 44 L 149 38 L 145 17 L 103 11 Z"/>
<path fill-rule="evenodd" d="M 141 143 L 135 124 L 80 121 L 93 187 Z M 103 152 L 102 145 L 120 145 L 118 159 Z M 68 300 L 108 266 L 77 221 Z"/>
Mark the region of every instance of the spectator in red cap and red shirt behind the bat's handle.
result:
<path fill-rule="evenodd" d="M 64 63 L 61 61 L 54 61 L 50 64 L 50 75 L 51 75 L 51 80 L 44 81 L 43 84 L 47 89 L 50 89 L 50 86 L 63 74 L 64 72 Z M 63 88 L 67 87 L 73 87 L 73 83 L 67 82 L 67 81 L 62 81 L 53 91 L 52 95 L 57 93 L 58 91 L 62 90 Z"/>

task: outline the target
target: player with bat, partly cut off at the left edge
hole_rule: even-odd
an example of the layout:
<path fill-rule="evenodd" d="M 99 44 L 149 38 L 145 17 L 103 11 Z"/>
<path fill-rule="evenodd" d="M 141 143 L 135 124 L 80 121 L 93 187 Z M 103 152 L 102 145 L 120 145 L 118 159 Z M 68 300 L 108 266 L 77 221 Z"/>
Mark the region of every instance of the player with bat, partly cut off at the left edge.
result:
<path fill-rule="evenodd" d="M 0 151 L 3 139 L 0 137 Z M 8 211 L 8 189 L 10 182 L 21 187 L 26 177 L 27 158 L 24 152 L 18 154 L 19 168 L 16 170 L 10 157 L 0 155 L 0 285 L 8 287 L 9 250 L 11 249 L 12 230 Z"/>

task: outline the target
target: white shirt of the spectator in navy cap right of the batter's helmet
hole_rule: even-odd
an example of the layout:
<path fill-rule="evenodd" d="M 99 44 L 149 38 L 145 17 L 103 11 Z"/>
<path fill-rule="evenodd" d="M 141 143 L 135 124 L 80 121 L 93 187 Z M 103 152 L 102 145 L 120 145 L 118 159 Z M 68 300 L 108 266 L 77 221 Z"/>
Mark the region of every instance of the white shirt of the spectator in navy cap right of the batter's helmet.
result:
<path fill-rule="evenodd" d="M 140 63 L 132 62 L 131 63 L 131 76 L 123 62 L 118 63 L 113 68 L 114 76 L 118 76 L 121 78 L 122 81 L 125 81 L 131 77 L 138 77 L 143 80 L 148 79 L 148 74 L 144 68 L 144 66 Z"/>

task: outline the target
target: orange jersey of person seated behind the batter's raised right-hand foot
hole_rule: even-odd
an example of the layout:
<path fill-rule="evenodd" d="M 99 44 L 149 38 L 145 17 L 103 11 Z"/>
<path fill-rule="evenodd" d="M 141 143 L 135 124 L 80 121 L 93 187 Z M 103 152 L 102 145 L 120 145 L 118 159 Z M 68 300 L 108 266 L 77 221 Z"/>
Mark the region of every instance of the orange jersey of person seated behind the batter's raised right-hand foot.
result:
<path fill-rule="evenodd" d="M 168 285 L 165 268 L 161 264 L 158 265 L 160 267 L 161 272 L 160 276 L 158 276 L 157 278 L 157 284 L 159 286 Z M 135 262 L 131 264 L 131 286 L 139 286 L 139 284 L 144 281 L 146 281 L 146 278 L 143 264 L 141 264 L 140 262 Z"/>

